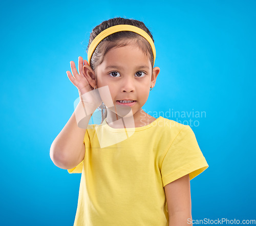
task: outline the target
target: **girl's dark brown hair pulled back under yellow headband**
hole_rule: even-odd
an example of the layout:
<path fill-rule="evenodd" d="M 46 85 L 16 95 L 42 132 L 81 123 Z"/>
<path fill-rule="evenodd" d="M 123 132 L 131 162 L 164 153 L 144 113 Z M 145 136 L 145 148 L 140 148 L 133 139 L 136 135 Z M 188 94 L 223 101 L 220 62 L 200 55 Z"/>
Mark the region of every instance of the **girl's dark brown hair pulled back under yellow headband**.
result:
<path fill-rule="evenodd" d="M 136 26 L 136 27 L 144 30 L 148 35 L 150 35 L 150 37 L 152 38 L 152 40 L 154 42 L 154 39 L 153 39 L 153 36 L 152 36 L 150 30 L 148 30 L 146 28 L 146 26 L 144 25 L 144 23 L 142 21 L 135 20 L 135 19 L 126 19 L 126 18 L 122 18 L 122 17 L 115 17 L 115 18 L 111 18 L 109 20 L 105 20 L 105 21 L 101 22 L 100 25 L 96 26 L 92 30 L 92 32 L 90 34 L 88 47 L 87 47 L 87 52 L 88 52 L 88 49 L 89 49 L 90 44 L 92 43 L 93 39 L 100 32 L 104 31 L 107 28 L 115 26 L 115 25 Z M 152 52 L 150 43 L 148 43 L 148 41 L 144 37 L 142 37 L 141 35 L 139 35 L 135 32 L 132 32 L 132 31 L 116 32 L 114 34 L 111 34 L 111 35 L 105 37 L 103 40 L 101 40 L 100 43 L 98 44 L 98 46 L 96 47 L 96 49 L 94 50 L 92 57 L 91 57 L 90 65 L 92 67 L 92 70 L 95 71 L 96 67 L 103 62 L 104 56 L 106 53 L 108 53 L 108 51 L 110 51 L 113 48 L 128 46 L 129 44 L 134 43 L 134 42 L 138 44 L 139 48 L 150 59 L 151 65 L 152 65 L 152 70 L 153 70 L 154 56 L 153 56 L 153 52 Z M 106 107 L 104 104 L 101 104 L 99 106 L 99 108 L 101 109 L 101 123 L 102 123 L 104 121 L 104 119 L 106 118 L 107 111 L 106 111 Z M 104 110 L 104 112 L 103 112 L 103 110 Z"/>

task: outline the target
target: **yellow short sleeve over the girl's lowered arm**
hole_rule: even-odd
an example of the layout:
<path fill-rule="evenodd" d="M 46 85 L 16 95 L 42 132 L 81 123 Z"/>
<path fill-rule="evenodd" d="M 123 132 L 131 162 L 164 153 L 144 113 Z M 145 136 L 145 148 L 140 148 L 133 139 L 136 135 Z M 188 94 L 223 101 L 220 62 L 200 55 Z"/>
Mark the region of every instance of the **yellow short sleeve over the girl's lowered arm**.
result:
<path fill-rule="evenodd" d="M 208 164 L 200 150 L 195 133 L 186 125 L 168 148 L 161 166 L 163 187 L 186 174 L 193 179 Z"/>

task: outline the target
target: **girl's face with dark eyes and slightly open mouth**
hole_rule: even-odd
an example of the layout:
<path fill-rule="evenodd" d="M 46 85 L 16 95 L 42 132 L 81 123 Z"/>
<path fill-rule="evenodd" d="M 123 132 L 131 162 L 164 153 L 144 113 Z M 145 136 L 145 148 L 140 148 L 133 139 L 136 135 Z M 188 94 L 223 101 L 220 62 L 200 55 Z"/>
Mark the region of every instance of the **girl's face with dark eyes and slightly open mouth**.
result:
<path fill-rule="evenodd" d="M 141 112 L 141 107 L 146 103 L 150 87 L 154 87 L 159 67 L 152 71 L 150 59 L 144 55 L 137 44 L 113 48 L 104 56 L 103 62 L 96 67 L 97 86 L 108 86 L 112 100 L 102 101 L 107 107 L 115 106 L 115 111 L 127 107 L 132 109 L 133 115 Z M 131 99 L 131 105 L 122 105 L 119 101 Z"/>

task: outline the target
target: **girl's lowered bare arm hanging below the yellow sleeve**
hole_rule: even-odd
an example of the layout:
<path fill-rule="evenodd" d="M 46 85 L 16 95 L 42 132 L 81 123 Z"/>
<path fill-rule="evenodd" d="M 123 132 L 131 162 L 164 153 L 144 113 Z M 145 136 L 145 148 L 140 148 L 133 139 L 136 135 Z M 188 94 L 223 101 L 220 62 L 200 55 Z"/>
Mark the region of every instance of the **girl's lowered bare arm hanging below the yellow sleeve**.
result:
<path fill-rule="evenodd" d="M 164 186 L 169 213 L 169 226 L 192 225 L 189 175 Z"/>

